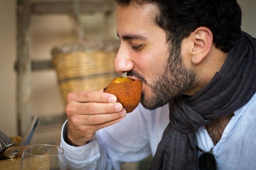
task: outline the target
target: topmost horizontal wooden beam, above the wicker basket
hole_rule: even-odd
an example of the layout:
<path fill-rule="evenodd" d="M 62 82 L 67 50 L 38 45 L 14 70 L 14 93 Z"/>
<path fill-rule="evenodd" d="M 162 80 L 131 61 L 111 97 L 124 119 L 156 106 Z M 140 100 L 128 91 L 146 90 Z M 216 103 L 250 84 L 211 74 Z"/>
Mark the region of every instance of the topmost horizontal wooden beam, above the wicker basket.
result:
<path fill-rule="evenodd" d="M 18 8 L 19 9 L 19 8 Z M 32 14 L 70 14 L 74 9 L 72 1 L 34 2 L 31 4 Z M 79 2 L 79 13 L 111 13 L 114 10 L 113 3 L 105 2 Z"/>

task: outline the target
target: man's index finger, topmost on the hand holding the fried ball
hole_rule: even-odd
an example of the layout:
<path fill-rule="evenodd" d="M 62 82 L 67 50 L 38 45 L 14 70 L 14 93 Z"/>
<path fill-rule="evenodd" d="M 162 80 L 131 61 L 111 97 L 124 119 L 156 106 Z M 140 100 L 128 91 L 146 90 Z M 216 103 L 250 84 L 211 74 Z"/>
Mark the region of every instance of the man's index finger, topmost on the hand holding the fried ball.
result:
<path fill-rule="evenodd" d="M 116 103 L 117 97 L 110 93 L 100 91 L 74 91 L 68 94 L 68 101 L 80 103 L 99 102 L 99 103 Z"/>

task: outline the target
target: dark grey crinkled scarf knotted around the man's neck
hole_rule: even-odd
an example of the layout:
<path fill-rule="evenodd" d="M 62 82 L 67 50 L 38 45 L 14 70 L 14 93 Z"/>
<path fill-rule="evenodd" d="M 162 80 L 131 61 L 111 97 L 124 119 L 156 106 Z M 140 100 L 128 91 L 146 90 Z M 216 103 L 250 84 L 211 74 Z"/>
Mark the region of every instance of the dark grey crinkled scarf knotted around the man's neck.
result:
<path fill-rule="evenodd" d="M 170 123 L 158 144 L 151 168 L 197 168 L 194 131 L 212 119 L 227 116 L 246 104 L 256 92 L 256 39 L 241 32 L 220 72 L 194 96 L 169 103 Z"/>

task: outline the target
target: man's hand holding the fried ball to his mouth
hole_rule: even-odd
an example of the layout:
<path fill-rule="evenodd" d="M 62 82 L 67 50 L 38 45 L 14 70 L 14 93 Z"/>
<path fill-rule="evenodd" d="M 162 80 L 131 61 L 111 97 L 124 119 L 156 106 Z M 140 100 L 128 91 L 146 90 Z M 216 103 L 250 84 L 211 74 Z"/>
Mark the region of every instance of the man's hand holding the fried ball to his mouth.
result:
<path fill-rule="evenodd" d="M 75 91 L 68 94 L 67 100 L 67 138 L 73 146 L 87 144 L 95 131 L 125 118 L 126 110 L 113 94 Z"/>

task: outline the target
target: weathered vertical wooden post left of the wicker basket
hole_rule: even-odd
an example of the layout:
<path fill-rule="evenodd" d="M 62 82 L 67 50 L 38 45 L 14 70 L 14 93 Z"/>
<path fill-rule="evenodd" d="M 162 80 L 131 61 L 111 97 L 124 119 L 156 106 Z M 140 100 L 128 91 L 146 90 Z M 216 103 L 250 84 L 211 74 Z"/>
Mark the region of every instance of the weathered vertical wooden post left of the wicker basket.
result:
<path fill-rule="evenodd" d="M 31 123 L 31 27 L 30 0 L 18 1 L 17 112 L 18 135 L 23 136 Z"/>

